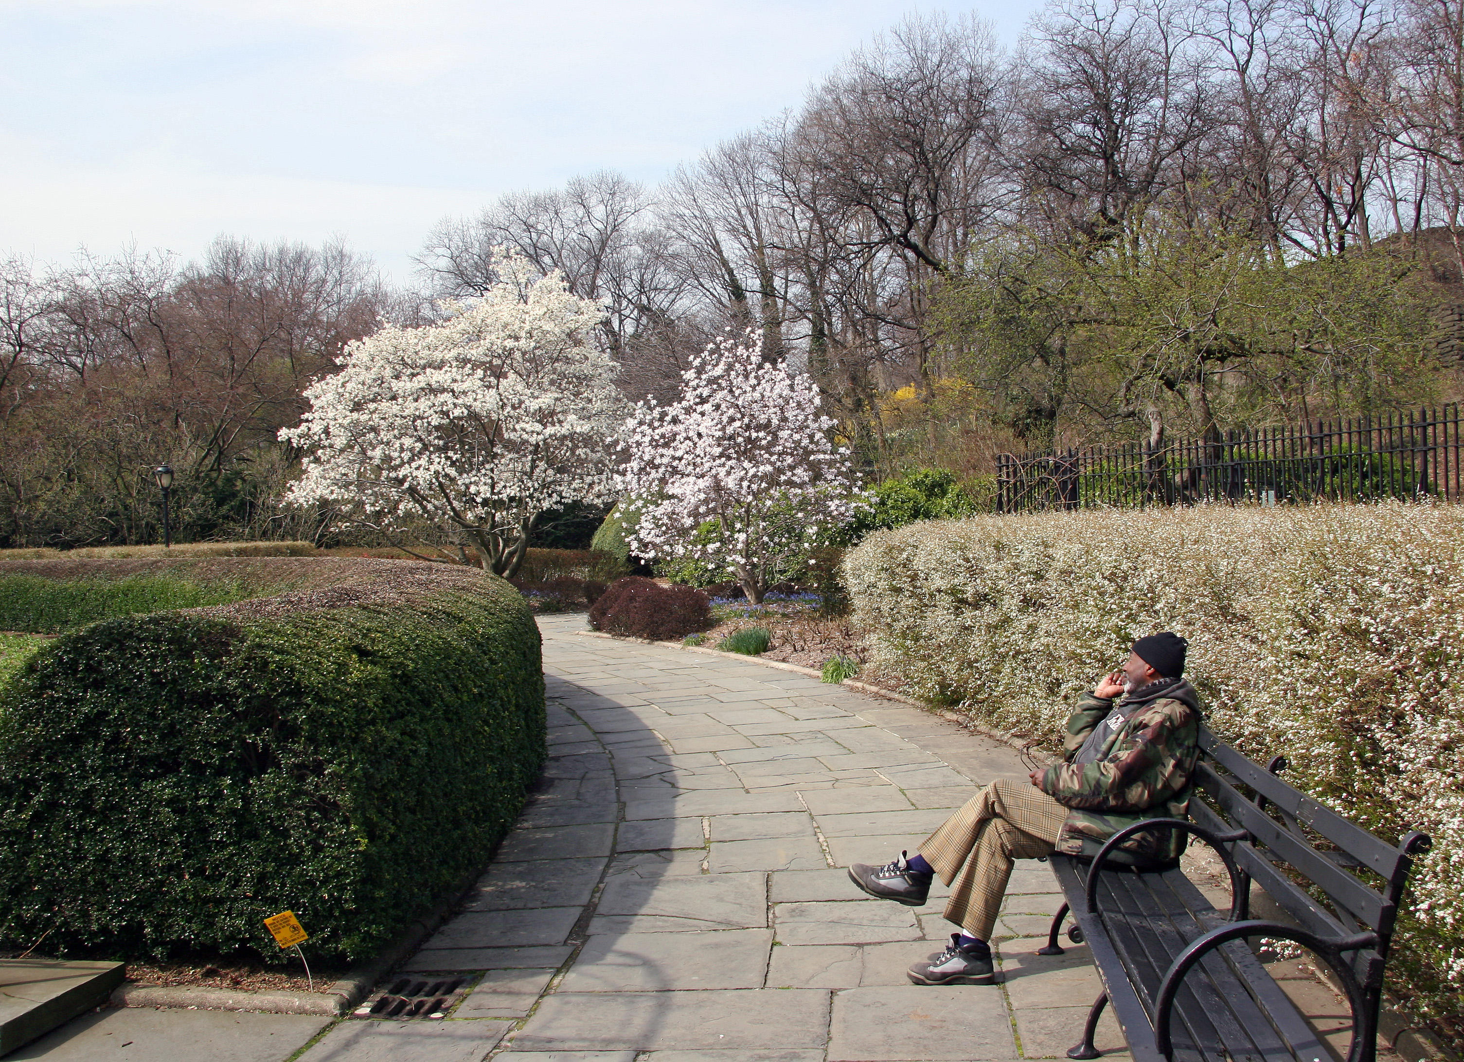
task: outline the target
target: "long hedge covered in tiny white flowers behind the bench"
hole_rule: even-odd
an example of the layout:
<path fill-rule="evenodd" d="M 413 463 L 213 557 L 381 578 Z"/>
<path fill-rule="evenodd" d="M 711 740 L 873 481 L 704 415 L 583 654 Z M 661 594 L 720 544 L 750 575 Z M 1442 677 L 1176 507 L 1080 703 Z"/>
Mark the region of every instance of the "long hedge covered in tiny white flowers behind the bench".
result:
<path fill-rule="evenodd" d="M 1397 841 L 1433 836 L 1389 962 L 1457 1021 L 1464 990 L 1464 510 L 1044 513 L 877 532 L 845 560 L 871 662 L 1003 731 L 1056 737 L 1139 636 L 1190 639 L 1209 724 Z"/>

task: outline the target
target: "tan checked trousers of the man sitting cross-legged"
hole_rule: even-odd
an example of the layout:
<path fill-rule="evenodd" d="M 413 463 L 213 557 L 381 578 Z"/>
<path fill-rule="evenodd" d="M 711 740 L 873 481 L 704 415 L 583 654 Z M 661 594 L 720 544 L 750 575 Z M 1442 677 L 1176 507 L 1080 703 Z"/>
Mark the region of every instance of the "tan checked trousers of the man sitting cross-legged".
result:
<path fill-rule="evenodd" d="M 997 778 L 921 842 L 919 854 L 950 885 L 946 920 L 991 939 L 1012 860 L 1047 855 L 1067 809 L 1026 778 Z"/>

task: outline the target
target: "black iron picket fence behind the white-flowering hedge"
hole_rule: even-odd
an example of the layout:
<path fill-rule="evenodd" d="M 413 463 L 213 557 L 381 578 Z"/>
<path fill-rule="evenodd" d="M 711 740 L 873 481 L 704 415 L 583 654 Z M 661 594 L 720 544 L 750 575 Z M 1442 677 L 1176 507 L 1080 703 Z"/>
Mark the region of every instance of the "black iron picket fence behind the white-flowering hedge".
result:
<path fill-rule="evenodd" d="M 1460 407 L 997 458 L 997 511 L 1464 495 Z"/>

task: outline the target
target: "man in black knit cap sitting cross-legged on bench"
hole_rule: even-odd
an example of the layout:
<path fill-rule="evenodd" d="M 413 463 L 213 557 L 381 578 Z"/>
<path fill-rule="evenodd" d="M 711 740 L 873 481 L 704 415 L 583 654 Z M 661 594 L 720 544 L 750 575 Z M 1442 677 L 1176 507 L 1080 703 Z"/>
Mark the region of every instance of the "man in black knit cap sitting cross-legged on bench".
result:
<path fill-rule="evenodd" d="M 1067 756 L 1029 781 L 997 778 L 921 842 L 881 867 L 855 863 L 849 877 L 871 896 L 921 907 L 934 875 L 952 886 L 944 917 L 960 926 L 950 946 L 909 968 L 916 984 L 991 984 L 991 930 L 1012 860 L 1053 851 L 1097 855 L 1104 841 L 1143 819 L 1186 817 L 1198 756 L 1199 697 L 1184 681 L 1187 642 L 1170 631 L 1133 643 L 1120 671 L 1085 694 L 1067 719 Z M 1114 703 L 1114 697 L 1123 694 Z M 1174 831 L 1140 833 L 1116 861 L 1168 863 Z"/>

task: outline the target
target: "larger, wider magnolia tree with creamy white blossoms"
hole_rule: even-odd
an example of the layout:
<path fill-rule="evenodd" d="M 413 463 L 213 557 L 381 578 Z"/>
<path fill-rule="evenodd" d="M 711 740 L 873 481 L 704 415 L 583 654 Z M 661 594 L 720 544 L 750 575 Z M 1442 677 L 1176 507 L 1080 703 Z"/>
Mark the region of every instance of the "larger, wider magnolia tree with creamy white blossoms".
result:
<path fill-rule="evenodd" d="M 425 519 L 512 576 L 545 510 L 610 497 L 624 409 L 615 363 L 587 341 L 600 309 L 518 255 L 496 268 L 480 300 L 350 344 L 306 390 L 309 412 L 281 432 L 306 451 L 293 501 L 397 533 Z"/>

